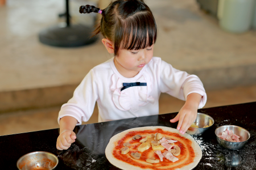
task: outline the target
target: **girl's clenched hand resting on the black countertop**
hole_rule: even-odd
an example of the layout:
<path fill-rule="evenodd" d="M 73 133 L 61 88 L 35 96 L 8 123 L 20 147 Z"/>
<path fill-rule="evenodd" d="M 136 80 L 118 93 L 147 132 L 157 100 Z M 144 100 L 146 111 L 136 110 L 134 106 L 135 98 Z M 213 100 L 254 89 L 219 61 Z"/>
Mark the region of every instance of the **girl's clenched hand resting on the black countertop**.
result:
<path fill-rule="evenodd" d="M 76 134 L 72 130 L 64 130 L 57 138 L 56 147 L 58 150 L 67 150 L 71 143 L 75 142 Z"/>

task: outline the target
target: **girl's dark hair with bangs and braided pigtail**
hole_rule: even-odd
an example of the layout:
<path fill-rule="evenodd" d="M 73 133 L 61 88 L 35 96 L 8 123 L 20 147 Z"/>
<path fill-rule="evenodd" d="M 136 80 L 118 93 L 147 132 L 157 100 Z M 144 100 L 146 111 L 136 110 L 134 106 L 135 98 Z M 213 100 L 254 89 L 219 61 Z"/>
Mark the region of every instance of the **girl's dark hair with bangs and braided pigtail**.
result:
<path fill-rule="evenodd" d="M 100 8 L 81 6 L 80 13 L 98 12 Z M 102 33 L 114 42 L 114 55 L 118 49 L 144 49 L 156 41 L 156 23 L 150 8 L 143 0 L 117 0 L 102 10 L 101 23 L 94 30 L 94 35 Z"/>

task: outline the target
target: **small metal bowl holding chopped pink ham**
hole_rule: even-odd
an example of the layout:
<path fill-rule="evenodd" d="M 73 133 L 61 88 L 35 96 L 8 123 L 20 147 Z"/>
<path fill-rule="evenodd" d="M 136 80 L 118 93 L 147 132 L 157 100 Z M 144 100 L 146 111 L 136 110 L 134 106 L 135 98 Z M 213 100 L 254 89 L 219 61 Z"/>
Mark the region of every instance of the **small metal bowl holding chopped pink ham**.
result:
<path fill-rule="evenodd" d="M 240 141 L 242 142 L 229 142 L 219 138 L 217 135 L 221 135 L 226 129 L 233 130 L 233 133 L 240 136 Z M 241 128 L 240 126 L 235 125 L 224 125 L 220 126 L 215 130 L 215 135 L 217 137 L 217 142 L 222 147 L 227 148 L 229 150 L 240 150 L 245 144 L 247 143 L 248 139 L 250 138 L 250 133 L 248 130 Z"/>

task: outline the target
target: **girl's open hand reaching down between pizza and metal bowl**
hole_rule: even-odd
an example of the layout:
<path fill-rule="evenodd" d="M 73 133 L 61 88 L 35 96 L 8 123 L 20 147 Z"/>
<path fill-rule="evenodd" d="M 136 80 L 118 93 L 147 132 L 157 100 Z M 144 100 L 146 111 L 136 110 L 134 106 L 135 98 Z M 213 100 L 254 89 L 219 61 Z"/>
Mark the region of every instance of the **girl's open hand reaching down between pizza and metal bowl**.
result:
<path fill-rule="evenodd" d="M 187 96 L 187 101 L 180 109 L 177 116 L 170 120 L 170 122 L 172 123 L 179 121 L 179 124 L 177 125 L 177 130 L 180 130 L 181 134 L 184 134 L 192 125 L 193 121 L 196 120 L 197 108 L 199 106 L 201 97 L 201 95 L 196 93 L 189 94 Z"/>

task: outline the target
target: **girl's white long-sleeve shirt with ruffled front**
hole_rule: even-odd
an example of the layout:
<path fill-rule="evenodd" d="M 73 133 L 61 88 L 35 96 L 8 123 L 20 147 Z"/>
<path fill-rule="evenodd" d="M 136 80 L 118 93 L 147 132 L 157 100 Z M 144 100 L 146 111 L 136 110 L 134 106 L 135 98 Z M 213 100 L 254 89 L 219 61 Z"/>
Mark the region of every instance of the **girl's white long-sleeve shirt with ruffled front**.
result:
<path fill-rule="evenodd" d="M 134 86 L 121 91 L 123 83 L 141 82 L 147 86 Z M 167 93 L 186 100 L 191 93 L 207 95 L 203 83 L 196 75 L 174 69 L 159 57 L 153 57 L 133 78 L 125 78 L 115 68 L 114 58 L 94 67 L 76 88 L 72 99 L 61 107 L 58 122 L 64 116 L 76 118 L 78 124 L 88 121 L 97 101 L 99 121 L 150 116 L 159 113 L 159 96 Z"/>

